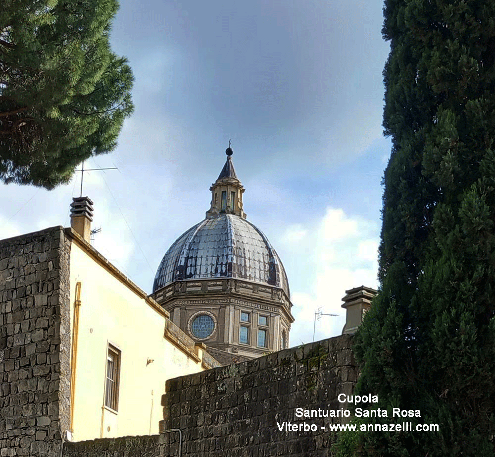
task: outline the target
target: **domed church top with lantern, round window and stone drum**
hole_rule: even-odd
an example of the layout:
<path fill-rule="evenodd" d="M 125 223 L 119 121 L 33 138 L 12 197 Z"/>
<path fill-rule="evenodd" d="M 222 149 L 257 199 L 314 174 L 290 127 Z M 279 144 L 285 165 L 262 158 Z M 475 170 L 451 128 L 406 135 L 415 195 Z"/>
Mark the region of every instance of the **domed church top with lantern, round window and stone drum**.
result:
<path fill-rule="evenodd" d="M 285 349 L 294 322 L 282 261 L 247 220 L 230 147 L 226 154 L 205 219 L 165 253 L 151 295 L 224 364 Z"/>

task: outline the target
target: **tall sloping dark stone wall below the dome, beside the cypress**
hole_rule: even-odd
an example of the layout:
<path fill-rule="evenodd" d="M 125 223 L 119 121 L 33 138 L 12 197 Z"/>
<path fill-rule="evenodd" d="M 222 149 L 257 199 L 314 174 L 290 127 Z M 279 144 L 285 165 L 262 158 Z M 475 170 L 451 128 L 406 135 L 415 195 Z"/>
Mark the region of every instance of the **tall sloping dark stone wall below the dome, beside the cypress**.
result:
<path fill-rule="evenodd" d="M 357 380 L 344 335 L 248 362 L 167 381 L 160 430 L 181 429 L 182 456 L 330 456 L 341 418 L 300 419 L 295 409 L 346 409 Z M 277 422 L 316 424 L 315 432 L 279 431 Z M 321 427 L 326 427 L 323 430 Z M 162 457 L 178 455 L 178 434 L 161 436 Z"/>

